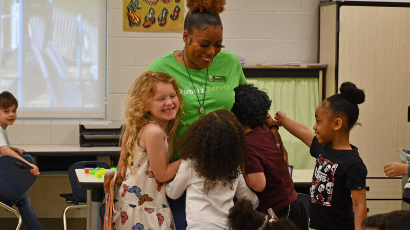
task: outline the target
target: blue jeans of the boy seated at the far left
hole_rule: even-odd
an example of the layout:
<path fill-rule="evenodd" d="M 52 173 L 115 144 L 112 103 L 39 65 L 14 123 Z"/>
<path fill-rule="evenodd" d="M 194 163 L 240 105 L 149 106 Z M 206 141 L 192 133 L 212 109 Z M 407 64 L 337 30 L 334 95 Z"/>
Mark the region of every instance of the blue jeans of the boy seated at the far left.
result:
<path fill-rule="evenodd" d="M 33 163 L 33 157 L 31 155 L 25 154 L 22 157 L 30 163 Z M 44 230 L 40 221 L 34 213 L 33 208 L 31 207 L 31 201 L 29 195 L 24 193 L 23 196 L 18 198 L 14 203 L 17 206 L 18 212 L 22 216 L 24 224 L 26 224 L 27 229 L 29 230 Z"/>

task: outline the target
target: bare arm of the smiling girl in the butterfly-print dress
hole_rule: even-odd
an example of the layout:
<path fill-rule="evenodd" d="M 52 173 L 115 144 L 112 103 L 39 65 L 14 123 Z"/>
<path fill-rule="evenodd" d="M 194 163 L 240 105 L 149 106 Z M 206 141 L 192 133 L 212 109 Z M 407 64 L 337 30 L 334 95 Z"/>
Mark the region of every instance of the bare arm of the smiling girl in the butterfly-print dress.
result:
<path fill-rule="evenodd" d="M 148 123 L 140 137 L 141 148 L 147 150 L 152 173 L 159 182 L 166 182 L 175 177 L 181 160 L 168 164 L 162 129 L 154 123 Z"/>

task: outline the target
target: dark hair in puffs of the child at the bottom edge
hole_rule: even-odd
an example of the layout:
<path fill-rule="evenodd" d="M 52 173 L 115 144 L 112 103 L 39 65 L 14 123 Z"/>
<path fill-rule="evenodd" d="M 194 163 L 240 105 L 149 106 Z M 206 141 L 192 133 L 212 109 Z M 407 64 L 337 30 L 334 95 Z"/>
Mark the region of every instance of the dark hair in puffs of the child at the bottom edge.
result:
<path fill-rule="evenodd" d="M 270 222 L 270 216 L 257 212 L 250 200 L 238 200 L 227 216 L 227 230 L 297 230 L 290 219 L 279 218 Z"/>

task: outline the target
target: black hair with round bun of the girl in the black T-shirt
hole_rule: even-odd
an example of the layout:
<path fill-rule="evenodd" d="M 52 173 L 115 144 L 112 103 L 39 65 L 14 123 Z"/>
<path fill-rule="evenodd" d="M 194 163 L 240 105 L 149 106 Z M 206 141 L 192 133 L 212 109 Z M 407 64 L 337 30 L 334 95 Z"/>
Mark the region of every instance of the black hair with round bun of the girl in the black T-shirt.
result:
<path fill-rule="evenodd" d="M 324 99 L 322 106 L 325 110 L 331 111 L 334 117 L 345 116 L 347 128 L 350 130 L 359 117 L 357 104 L 364 102 L 364 91 L 358 89 L 352 82 L 343 82 L 339 90 L 340 93 Z"/>

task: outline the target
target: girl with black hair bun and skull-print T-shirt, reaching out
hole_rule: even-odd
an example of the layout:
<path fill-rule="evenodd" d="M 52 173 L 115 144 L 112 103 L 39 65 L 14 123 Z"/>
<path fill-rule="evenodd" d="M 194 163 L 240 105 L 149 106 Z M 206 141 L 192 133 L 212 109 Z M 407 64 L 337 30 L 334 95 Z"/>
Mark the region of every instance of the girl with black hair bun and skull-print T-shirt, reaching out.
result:
<path fill-rule="evenodd" d="M 350 144 L 349 133 L 363 101 L 363 90 L 354 83 L 342 83 L 339 94 L 316 108 L 315 132 L 282 111 L 276 113 L 276 124 L 308 145 L 317 159 L 310 189 L 311 228 L 362 229 L 367 215 L 367 169 L 358 149 Z"/>

